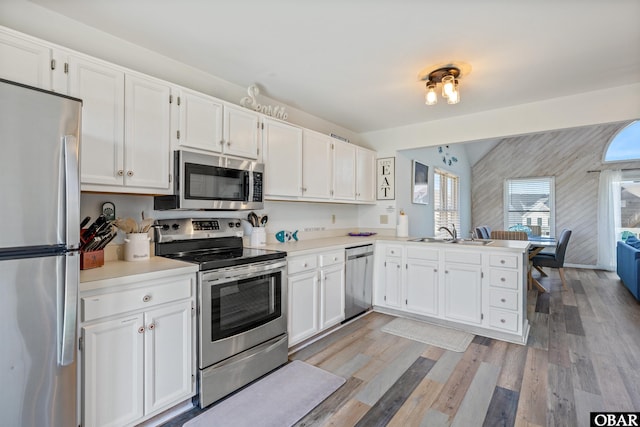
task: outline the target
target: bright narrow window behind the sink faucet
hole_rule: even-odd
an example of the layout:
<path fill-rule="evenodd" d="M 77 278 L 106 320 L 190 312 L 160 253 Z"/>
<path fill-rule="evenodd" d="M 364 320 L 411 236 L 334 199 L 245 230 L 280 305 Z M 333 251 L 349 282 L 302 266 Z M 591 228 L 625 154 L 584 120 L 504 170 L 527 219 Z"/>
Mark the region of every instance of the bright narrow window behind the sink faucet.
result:
<path fill-rule="evenodd" d="M 435 235 L 451 237 L 440 227 L 451 229 L 454 224 L 460 230 L 459 193 L 460 183 L 456 175 L 436 169 L 433 172 L 433 216 Z"/>

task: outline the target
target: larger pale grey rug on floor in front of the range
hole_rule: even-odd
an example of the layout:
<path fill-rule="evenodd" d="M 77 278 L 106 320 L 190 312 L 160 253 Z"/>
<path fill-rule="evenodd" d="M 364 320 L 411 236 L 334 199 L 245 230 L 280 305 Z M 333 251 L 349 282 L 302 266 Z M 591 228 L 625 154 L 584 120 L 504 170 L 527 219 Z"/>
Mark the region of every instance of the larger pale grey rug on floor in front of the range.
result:
<path fill-rule="evenodd" d="M 344 383 L 342 377 L 295 360 L 183 427 L 292 426 Z"/>

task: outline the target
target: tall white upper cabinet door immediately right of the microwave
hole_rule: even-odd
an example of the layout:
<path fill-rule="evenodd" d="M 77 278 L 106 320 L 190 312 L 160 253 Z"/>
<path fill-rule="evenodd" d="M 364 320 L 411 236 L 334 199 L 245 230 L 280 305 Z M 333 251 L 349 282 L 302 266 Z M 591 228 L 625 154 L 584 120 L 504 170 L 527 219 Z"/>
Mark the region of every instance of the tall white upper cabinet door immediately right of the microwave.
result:
<path fill-rule="evenodd" d="M 267 118 L 263 120 L 263 125 L 265 197 L 300 197 L 302 195 L 302 129 Z"/>

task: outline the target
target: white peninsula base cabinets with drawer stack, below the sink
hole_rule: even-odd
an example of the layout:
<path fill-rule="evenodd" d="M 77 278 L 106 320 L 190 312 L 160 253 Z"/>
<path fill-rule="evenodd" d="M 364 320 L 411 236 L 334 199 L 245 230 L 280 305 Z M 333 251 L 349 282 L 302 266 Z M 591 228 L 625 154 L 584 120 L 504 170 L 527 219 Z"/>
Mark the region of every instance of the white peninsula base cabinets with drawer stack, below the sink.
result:
<path fill-rule="evenodd" d="M 375 254 L 379 309 L 526 342 L 526 253 L 379 242 Z"/>

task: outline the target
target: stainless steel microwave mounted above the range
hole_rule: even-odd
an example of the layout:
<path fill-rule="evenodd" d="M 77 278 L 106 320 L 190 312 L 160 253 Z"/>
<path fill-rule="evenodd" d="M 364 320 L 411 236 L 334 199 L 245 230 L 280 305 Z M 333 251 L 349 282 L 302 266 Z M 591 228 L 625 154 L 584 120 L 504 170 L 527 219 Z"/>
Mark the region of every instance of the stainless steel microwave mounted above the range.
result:
<path fill-rule="evenodd" d="M 174 193 L 154 197 L 156 210 L 254 210 L 263 207 L 264 164 L 177 150 Z"/>

